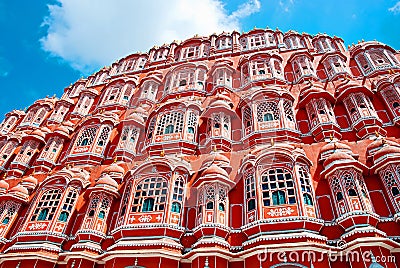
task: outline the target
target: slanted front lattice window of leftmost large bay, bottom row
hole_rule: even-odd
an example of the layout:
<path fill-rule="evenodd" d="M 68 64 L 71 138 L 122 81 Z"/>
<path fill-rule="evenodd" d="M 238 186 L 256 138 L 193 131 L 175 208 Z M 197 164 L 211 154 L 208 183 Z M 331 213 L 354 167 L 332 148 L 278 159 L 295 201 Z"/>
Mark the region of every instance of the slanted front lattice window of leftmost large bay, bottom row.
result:
<path fill-rule="evenodd" d="M 52 189 L 42 193 L 31 216 L 31 221 L 52 220 L 61 199 L 61 190 Z"/>

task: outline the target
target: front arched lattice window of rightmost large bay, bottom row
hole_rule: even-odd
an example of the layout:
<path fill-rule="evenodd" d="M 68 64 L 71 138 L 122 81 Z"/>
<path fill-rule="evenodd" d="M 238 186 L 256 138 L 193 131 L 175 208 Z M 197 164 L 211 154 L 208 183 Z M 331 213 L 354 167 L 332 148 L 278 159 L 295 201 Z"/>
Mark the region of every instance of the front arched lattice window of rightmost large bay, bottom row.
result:
<path fill-rule="evenodd" d="M 295 204 L 296 193 L 292 174 L 282 168 L 270 169 L 261 176 L 264 206 Z"/>

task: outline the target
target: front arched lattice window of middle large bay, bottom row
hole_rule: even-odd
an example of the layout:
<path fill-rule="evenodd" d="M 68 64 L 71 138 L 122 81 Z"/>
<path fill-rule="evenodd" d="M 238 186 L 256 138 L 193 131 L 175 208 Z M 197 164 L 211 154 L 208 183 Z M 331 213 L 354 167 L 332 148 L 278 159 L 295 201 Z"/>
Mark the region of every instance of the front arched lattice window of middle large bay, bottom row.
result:
<path fill-rule="evenodd" d="M 168 186 L 163 178 L 146 178 L 137 186 L 132 212 L 163 211 L 167 200 Z"/>

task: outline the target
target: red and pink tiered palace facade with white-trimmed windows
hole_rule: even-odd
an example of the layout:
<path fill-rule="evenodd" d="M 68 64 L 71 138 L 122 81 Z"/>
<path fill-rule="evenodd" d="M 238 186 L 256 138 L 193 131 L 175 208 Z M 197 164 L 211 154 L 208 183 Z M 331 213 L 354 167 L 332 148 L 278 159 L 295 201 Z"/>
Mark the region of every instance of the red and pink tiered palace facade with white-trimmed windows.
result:
<path fill-rule="evenodd" d="M 9 112 L 0 267 L 398 267 L 399 59 L 195 36 Z"/>

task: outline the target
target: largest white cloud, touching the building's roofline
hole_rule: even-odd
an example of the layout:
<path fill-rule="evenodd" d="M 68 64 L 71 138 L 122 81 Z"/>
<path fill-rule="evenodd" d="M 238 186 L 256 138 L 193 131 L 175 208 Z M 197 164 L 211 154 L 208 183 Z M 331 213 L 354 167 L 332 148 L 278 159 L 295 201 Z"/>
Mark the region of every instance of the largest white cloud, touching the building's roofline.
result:
<path fill-rule="evenodd" d="M 57 0 L 49 5 L 42 48 L 87 74 L 136 51 L 240 30 L 240 19 L 260 9 L 247 0 L 229 14 L 220 0 Z"/>

